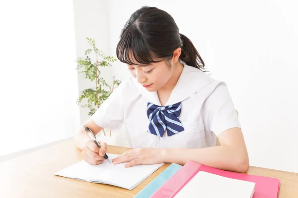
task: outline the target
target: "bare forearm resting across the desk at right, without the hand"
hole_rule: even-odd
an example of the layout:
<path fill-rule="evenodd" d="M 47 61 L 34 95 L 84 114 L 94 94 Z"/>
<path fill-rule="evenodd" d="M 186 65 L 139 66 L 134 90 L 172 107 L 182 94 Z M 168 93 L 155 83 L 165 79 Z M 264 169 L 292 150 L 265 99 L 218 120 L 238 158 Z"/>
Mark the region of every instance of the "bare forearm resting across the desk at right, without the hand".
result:
<path fill-rule="evenodd" d="M 189 160 L 207 166 L 236 172 L 247 172 L 248 156 L 245 151 L 232 146 L 209 148 L 164 148 L 165 162 L 185 164 Z"/>

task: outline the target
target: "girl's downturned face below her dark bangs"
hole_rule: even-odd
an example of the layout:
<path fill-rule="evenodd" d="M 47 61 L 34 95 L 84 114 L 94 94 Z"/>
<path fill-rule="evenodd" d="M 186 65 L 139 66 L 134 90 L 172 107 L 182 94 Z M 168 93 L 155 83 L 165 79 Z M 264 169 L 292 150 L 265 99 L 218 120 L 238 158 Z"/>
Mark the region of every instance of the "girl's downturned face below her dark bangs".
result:
<path fill-rule="evenodd" d="M 128 65 L 130 73 L 149 92 L 162 88 L 173 73 L 173 65 L 166 60 L 148 65 Z"/>

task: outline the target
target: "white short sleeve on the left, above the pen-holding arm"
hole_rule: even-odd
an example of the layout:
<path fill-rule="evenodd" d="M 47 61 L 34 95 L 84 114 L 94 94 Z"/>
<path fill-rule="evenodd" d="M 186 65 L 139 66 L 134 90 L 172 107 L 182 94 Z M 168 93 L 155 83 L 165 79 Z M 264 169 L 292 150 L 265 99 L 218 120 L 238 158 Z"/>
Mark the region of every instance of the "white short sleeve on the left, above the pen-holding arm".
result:
<path fill-rule="evenodd" d="M 122 82 L 92 115 L 98 126 L 106 129 L 120 129 L 124 118 L 123 100 L 127 81 Z"/>

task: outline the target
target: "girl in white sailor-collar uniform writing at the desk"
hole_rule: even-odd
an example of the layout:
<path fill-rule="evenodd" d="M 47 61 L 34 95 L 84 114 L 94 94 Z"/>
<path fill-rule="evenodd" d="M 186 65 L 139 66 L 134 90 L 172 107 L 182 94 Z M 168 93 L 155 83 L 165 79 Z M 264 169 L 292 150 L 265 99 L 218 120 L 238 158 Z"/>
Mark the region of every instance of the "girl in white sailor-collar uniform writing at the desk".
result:
<path fill-rule="evenodd" d="M 125 125 L 129 146 L 135 149 L 113 159 L 114 164 L 183 165 L 194 160 L 224 170 L 248 170 L 226 84 L 204 72 L 198 51 L 167 12 L 147 6 L 134 12 L 121 32 L 117 57 L 132 77 L 84 123 L 95 134 Z M 83 126 L 74 138 L 86 162 L 102 163 L 107 144 L 101 142 L 99 149 Z"/>

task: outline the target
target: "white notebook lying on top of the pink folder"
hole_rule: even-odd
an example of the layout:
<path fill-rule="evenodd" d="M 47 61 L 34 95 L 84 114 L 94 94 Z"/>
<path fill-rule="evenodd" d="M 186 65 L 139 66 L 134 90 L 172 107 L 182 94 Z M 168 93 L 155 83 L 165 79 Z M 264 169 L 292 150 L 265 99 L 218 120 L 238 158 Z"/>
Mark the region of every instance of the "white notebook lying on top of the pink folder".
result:
<path fill-rule="evenodd" d="M 200 171 L 174 198 L 252 198 L 255 183 Z"/>

